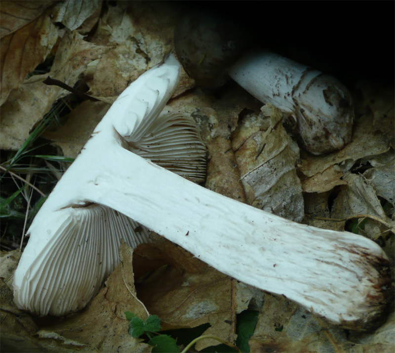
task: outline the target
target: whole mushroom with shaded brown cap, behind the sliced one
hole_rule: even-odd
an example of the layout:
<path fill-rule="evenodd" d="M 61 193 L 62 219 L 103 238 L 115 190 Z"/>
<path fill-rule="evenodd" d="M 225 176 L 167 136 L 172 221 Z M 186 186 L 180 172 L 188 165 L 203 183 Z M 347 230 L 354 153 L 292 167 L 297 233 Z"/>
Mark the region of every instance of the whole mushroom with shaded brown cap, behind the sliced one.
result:
<path fill-rule="evenodd" d="M 311 153 L 349 143 L 354 107 L 348 89 L 332 76 L 268 50 L 245 53 L 251 36 L 229 19 L 195 12 L 180 21 L 174 45 L 185 71 L 202 87 L 216 88 L 228 74 L 262 103 L 294 118 Z"/>

